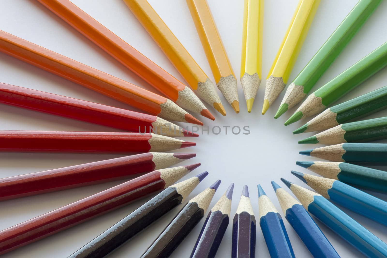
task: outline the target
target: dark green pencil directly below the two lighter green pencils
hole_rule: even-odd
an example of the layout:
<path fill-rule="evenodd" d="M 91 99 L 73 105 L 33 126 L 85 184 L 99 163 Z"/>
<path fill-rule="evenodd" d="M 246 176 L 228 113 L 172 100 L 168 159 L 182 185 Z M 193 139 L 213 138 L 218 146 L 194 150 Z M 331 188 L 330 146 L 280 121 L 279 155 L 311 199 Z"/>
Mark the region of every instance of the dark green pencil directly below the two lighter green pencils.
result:
<path fill-rule="evenodd" d="M 325 109 L 324 112 L 293 131 L 293 134 L 323 131 L 385 108 L 387 108 L 387 86 Z"/>

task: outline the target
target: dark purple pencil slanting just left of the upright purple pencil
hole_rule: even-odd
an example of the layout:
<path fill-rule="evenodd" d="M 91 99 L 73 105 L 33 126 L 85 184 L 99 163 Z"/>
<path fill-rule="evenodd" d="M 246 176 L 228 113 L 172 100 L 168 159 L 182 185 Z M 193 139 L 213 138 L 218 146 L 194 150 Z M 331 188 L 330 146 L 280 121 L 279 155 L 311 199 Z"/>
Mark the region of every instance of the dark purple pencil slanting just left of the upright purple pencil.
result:
<path fill-rule="evenodd" d="M 214 258 L 230 221 L 232 183 L 217 203 L 212 207 L 204 221 L 190 258 Z"/>

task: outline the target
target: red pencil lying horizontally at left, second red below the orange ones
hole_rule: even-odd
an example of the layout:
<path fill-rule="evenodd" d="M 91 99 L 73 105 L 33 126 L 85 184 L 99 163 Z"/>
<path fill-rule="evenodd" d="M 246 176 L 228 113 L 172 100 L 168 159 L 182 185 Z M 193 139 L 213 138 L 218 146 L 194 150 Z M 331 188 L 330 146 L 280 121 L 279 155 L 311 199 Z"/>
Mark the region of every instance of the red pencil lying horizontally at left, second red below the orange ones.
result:
<path fill-rule="evenodd" d="M 0 151 L 128 153 L 171 151 L 195 143 L 136 132 L 0 131 Z"/>

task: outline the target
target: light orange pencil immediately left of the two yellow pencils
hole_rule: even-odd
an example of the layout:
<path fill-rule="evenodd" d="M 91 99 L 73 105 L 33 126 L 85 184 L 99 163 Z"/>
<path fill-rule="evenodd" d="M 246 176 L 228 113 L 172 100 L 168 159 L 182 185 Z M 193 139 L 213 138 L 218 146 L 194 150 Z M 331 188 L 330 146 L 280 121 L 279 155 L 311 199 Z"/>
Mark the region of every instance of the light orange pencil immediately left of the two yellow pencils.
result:
<path fill-rule="evenodd" d="M 206 0 L 186 0 L 212 75 L 227 102 L 239 113 L 236 77 Z"/>

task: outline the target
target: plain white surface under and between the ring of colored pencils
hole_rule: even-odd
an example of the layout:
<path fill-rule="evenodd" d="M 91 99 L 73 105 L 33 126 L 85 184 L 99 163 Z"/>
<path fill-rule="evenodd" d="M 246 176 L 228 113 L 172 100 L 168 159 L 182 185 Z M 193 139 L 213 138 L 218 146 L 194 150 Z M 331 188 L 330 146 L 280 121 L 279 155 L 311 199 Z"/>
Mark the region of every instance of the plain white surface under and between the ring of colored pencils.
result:
<path fill-rule="evenodd" d="M 182 77 L 121 0 L 74 0 L 73 2 L 115 32 L 118 36 L 122 37 L 129 44 L 137 48 L 140 52 L 155 61 L 166 71 L 176 76 L 179 80 L 182 80 Z M 164 22 L 170 26 L 171 30 L 178 39 L 180 39 L 185 48 L 188 49 L 190 54 L 194 56 L 195 60 L 199 63 L 205 73 L 213 80 L 211 70 L 205 59 L 205 54 L 202 50 L 185 1 L 150 0 L 149 2 L 161 18 L 164 19 Z M 216 121 L 212 122 L 201 116 L 196 117 L 205 122 L 206 126 L 208 125 L 210 127 L 250 126 L 251 133 L 249 135 L 233 135 L 228 132 L 228 134 L 225 135 L 223 131 L 219 135 L 212 135 L 210 133 L 210 135 L 205 134 L 197 139 L 190 138 L 197 142 L 197 146 L 194 148 L 183 149 L 182 152 L 196 152 L 197 158 L 186 161 L 183 164 L 201 162 L 202 166 L 185 178 L 192 177 L 205 170 L 209 171 L 209 176 L 194 190 L 190 195 L 190 198 L 219 178 L 222 180 L 222 184 L 211 202 L 211 208 L 221 197 L 228 185 L 231 182 L 234 182 L 235 188 L 231 209 L 232 221 L 240 199 L 242 186 L 245 184 L 249 187 L 255 214 L 258 214 L 258 194 L 256 187 L 257 184 L 260 183 L 267 195 L 274 202 L 274 205 L 276 205 L 277 209 L 281 210 L 270 185 L 271 180 L 275 180 L 281 186 L 285 187 L 279 180 L 280 177 L 285 177 L 292 182 L 305 186 L 300 180 L 291 176 L 289 171 L 299 170 L 306 172 L 307 170 L 296 166 L 295 161 L 312 159 L 308 159 L 306 156 L 300 156 L 298 151 L 316 148 L 317 146 L 299 146 L 297 144 L 298 140 L 312 135 L 311 133 L 299 134 L 296 136 L 291 134 L 291 131 L 298 128 L 306 121 L 301 121 L 288 127 L 283 126 L 284 121 L 286 121 L 295 109 L 291 110 L 291 112 L 287 112 L 278 120 L 273 119 L 284 92 L 269 109 L 267 114 L 264 116 L 260 114 L 265 87 L 264 80 L 262 80 L 252 113 L 247 113 L 243 92 L 239 83 L 243 9 L 241 4 L 242 0 L 209 0 L 208 2 L 214 19 L 217 22 L 224 46 L 233 65 L 235 75 L 238 77 L 241 112 L 240 114 L 235 114 L 231 107 L 227 105 L 226 100 L 221 97 L 227 111 L 226 117 L 222 117 L 212 108 L 210 110 L 212 114 L 216 116 Z M 221 2 L 224 4 L 219 5 Z M 266 76 L 270 69 L 297 2 L 298 0 L 276 0 L 266 1 L 265 3 L 264 54 L 262 61 L 263 76 Z M 295 78 L 298 72 L 325 42 L 356 2 L 357 0 L 323 0 L 320 3 L 319 10 L 310 27 L 308 36 L 301 49 L 301 54 L 297 59 L 288 83 Z M 70 25 L 67 25 L 37 1 L 2 0 L 1 4 L 0 29 L 3 31 L 22 37 L 28 41 L 44 46 L 45 48 L 149 89 L 149 86 L 147 86 L 140 78 L 137 78 L 132 72 L 128 71 L 124 66 L 115 61 L 115 59 L 104 53 L 91 41 L 86 39 L 86 37 L 79 34 L 75 29 L 70 27 Z M 324 85 L 324 83 L 386 41 L 385 33 L 382 33 L 382 31 L 385 31 L 385 24 L 387 24 L 386 13 L 387 2 L 383 2 L 348 44 L 347 48 L 344 49 L 339 58 L 337 58 L 324 76 L 319 80 L 314 89 Z M 0 76 L 0 81 L 4 83 L 43 90 L 116 107 L 128 108 L 127 105 L 76 85 L 75 83 L 71 83 L 56 75 L 40 70 L 39 68 L 23 63 L 22 61 L 5 54 L 0 54 Z M 376 88 L 385 86 L 386 84 L 387 74 L 384 69 L 370 80 L 363 83 L 359 88 L 346 95 L 340 101 L 357 97 Z M 129 109 L 132 108 L 129 107 Z M 380 112 L 372 115 L 372 117 L 382 115 L 387 115 L 387 112 Z M 108 127 L 73 121 L 6 105 L 0 105 L 0 119 L 0 128 L 2 130 L 117 131 Z M 77 165 L 117 156 L 120 155 L 0 153 L 0 177 L 9 177 Z M 104 183 L 1 202 L 0 229 L 5 229 L 50 210 L 62 207 L 63 205 L 92 195 L 116 185 L 117 183 L 119 182 Z M 375 195 L 387 200 L 386 195 Z M 29 244 L 28 246 L 12 251 L 3 257 L 68 256 L 96 237 L 99 233 L 122 219 L 122 217 L 135 210 L 143 204 L 144 201 L 145 200 L 140 200 L 127 207 L 115 210 L 79 226 L 33 244 Z M 140 256 L 180 208 L 181 207 L 177 207 L 175 210 L 159 219 L 151 228 L 143 231 L 135 239 L 122 246 L 122 248 L 113 253 L 111 257 Z M 372 231 L 372 233 L 379 238 L 387 241 L 384 226 L 380 226 L 379 224 L 352 212 L 348 212 L 348 214 L 353 216 L 354 219 Z M 192 233 L 183 241 L 171 257 L 188 257 L 203 222 L 204 221 L 202 220 L 199 225 L 195 227 Z M 293 229 L 286 221 L 285 224 L 296 256 L 310 257 L 307 249 L 296 236 Z M 352 246 L 344 242 L 321 223 L 318 224 L 336 248 L 339 255 L 342 257 L 362 257 L 362 255 Z M 257 227 L 256 250 L 257 257 L 269 256 L 259 227 Z M 217 253 L 217 257 L 229 257 L 230 253 L 231 225 L 229 225 L 227 229 L 226 235 L 224 236 L 223 242 Z"/>

